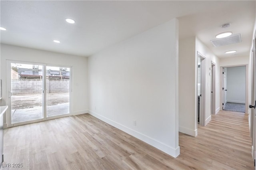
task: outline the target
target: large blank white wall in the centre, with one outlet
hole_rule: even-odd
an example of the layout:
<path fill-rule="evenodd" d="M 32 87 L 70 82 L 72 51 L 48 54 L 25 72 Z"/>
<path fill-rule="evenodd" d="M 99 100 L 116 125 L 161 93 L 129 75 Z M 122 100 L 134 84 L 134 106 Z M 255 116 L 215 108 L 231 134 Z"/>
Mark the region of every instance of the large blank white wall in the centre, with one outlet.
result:
<path fill-rule="evenodd" d="M 173 19 L 89 57 L 89 113 L 178 156 L 177 50 Z"/>

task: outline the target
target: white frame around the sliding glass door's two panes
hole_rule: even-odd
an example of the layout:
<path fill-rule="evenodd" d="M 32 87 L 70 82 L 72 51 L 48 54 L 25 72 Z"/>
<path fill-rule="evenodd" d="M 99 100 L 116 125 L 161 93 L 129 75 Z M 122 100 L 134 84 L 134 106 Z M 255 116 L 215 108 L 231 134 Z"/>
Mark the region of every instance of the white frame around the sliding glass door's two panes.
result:
<path fill-rule="evenodd" d="M 44 93 L 46 92 L 46 76 L 43 76 L 43 99 L 42 99 L 42 111 L 43 111 L 43 115 L 44 117 L 42 119 L 36 119 L 36 120 L 32 120 L 32 121 L 25 121 L 25 122 L 20 122 L 20 123 L 14 123 L 12 124 L 12 119 L 11 119 L 11 97 L 10 97 L 10 91 L 11 91 L 11 70 L 8 71 L 9 68 L 11 68 L 11 63 L 24 63 L 24 64 L 31 64 L 31 65 L 43 65 L 43 74 L 46 75 L 46 66 L 56 66 L 56 67 L 70 67 L 70 98 L 69 98 L 69 102 L 70 102 L 70 107 L 69 107 L 69 113 L 68 114 L 64 114 L 64 115 L 57 115 L 57 116 L 53 116 L 53 117 L 47 117 L 46 116 L 46 105 L 44 105 L 44 103 L 46 103 L 46 94 Z M 7 128 L 9 127 L 16 127 L 16 126 L 20 126 L 20 125 L 27 125 L 30 123 L 37 123 L 37 122 L 42 122 L 42 121 L 48 121 L 48 120 L 52 120 L 52 119 L 58 119 L 61 117 L 68 117 L 68 116 L 72 116 L 73 115 L 73 67 L 69 66 L 69 65 L 57 65 L 57 64 L 49 64 L 49 63 L 37 63 L 37 62 L 30 62 L 30 61 L 17 61 L 17 60 L 6 60 L 6 105 L 8 105 L 8 108 L 6 111 L 6 124 L 7 124 Z"/>

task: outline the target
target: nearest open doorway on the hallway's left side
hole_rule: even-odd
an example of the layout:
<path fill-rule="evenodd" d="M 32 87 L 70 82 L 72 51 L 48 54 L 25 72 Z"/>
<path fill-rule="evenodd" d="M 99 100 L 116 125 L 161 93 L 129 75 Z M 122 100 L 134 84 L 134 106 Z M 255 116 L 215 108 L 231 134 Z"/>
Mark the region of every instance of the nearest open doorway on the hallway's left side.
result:
<path fill-rule="evenodd" d="M 205 125 L 205 57 L 198 52 L 197 55 L 197 122 Z"/>

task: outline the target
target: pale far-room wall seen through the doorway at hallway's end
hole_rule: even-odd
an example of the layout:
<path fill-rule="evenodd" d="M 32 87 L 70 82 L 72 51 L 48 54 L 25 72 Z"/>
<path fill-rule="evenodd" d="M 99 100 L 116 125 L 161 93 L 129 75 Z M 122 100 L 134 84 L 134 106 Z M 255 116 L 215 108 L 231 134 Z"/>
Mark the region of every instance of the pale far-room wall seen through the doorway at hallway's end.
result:
<path fill-rule="evenodd" d="M 246 67 L 227 67 L 227 102 L 245 103 Z"/>

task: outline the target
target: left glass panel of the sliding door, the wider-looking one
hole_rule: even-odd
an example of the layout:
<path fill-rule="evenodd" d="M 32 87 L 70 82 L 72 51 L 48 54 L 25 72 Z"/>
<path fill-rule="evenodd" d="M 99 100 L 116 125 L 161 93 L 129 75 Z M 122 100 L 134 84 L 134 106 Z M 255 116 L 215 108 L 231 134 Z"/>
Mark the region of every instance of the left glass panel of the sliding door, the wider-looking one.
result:
<path fill-rule="evenodd" d="M 43 118 L 42 65 L 11 63 L 12 124 Z"/>

